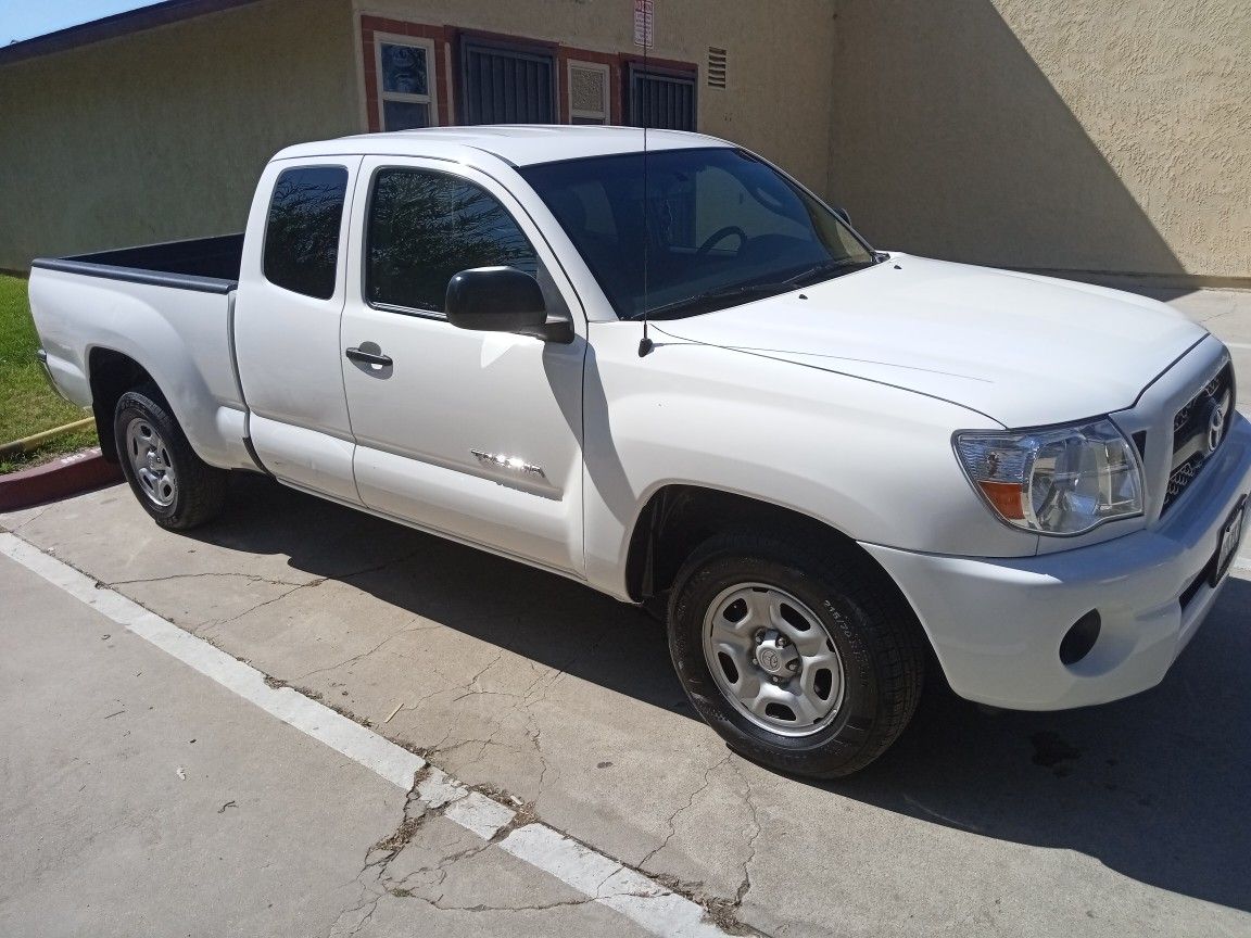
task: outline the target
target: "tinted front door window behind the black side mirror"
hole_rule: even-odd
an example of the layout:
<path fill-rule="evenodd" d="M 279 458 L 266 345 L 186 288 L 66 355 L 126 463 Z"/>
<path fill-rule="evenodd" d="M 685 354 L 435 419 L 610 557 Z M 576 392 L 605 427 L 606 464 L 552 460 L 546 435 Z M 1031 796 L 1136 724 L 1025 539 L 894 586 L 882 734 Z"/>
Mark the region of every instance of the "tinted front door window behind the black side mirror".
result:
<path fill-rule="evenodd" d="M 493 195 L 438 173 L 378 171 L 365 233 L 370 303 L 442 313 L 448 280 L 497 265 L 538 270 L 534 248 Z"/>

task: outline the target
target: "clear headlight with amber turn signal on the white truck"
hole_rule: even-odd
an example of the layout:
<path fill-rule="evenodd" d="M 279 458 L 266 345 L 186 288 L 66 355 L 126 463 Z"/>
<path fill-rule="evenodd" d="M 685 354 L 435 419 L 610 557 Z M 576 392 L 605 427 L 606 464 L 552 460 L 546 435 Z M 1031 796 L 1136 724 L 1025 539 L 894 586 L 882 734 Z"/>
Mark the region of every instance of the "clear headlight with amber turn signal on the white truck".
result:
<path fill-rule="evenodd" d="M 1081 534 L 1142 514 L 1142 470 L 1108 419 L 1041 430 L 956 434 L 965 473 L 1008 524 Z"/>

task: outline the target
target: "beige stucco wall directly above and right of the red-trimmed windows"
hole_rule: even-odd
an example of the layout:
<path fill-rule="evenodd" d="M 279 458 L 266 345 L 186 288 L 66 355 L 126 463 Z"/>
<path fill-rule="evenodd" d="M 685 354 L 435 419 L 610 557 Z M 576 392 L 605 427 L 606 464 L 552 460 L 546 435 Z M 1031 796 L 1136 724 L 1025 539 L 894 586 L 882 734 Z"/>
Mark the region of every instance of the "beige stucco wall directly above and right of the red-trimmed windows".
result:
<path fill-rule="evenodd" d="M 633 0 L 355 0 L 358 13 L 502 33 L 599 53 L 634 46 Z M 778 161 L 808 185 L 828 179 L 832 0 L 657 0 L 652 56 L 699 66 L 698 123 Z M 728 53 L 727 88 L 708 88 L 708 48 Z"/>

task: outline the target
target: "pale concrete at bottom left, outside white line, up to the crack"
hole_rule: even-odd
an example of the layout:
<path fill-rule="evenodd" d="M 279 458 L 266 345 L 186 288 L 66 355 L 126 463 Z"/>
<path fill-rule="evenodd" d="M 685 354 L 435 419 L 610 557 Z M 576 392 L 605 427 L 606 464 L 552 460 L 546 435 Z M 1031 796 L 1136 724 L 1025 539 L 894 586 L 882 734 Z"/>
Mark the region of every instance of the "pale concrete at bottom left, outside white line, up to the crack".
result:
<path fill-rule="evenodd" d="M 0 934 L 314 933 L 350 900 L 393 785 L 6 558 L 0 594 Z"/>

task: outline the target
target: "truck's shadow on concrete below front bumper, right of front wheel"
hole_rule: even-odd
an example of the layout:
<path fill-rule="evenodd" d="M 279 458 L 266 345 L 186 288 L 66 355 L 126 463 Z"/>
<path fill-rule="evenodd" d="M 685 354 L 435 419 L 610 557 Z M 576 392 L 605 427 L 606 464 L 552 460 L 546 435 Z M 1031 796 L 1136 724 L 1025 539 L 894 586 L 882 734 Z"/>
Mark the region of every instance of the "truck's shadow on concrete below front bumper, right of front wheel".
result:
<path fill-rule="evenodd" d="M 829 792 L 936 824 L 1076 850 L 1251 912 L 1251 582 L 1157 688 L 1103 707 L 986 713 L 926 695 L 899 742 Z"/>

